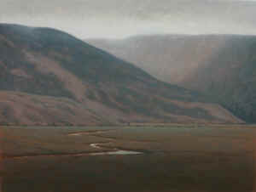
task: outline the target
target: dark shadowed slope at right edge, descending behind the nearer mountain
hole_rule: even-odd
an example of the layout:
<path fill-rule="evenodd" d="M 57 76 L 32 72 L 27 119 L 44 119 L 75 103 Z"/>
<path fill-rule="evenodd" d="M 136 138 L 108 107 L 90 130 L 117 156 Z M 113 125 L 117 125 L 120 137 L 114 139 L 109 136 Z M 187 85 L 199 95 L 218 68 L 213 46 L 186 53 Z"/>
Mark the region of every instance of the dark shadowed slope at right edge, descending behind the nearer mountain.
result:
<path fill-rule="evenodd" d="M 256 122 L 256 37 L 234 37 L 183 86 L 212 96 L 243 120 Z"/>

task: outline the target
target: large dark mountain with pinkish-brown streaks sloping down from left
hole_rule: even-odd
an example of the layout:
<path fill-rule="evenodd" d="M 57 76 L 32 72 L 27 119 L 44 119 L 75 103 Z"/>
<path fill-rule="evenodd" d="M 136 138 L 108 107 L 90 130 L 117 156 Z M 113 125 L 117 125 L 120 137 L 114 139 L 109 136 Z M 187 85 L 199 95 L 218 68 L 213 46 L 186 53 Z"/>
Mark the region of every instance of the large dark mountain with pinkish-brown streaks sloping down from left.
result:
<path fill-rule="evenodd" d="M 0 124 L 242 122 L 65 32 L 0 25 Z"/>

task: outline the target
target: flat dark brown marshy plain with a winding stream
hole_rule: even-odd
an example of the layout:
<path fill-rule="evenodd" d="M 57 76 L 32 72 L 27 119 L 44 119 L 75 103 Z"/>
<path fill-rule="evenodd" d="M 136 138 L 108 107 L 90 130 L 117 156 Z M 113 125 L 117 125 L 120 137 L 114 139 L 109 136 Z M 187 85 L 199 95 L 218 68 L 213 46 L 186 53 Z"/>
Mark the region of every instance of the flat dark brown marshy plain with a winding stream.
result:
<path fill-rule="evenodd" d="M 1 127 L 2 191 L 254 191 L 255 136 L 237 126 Z"/>

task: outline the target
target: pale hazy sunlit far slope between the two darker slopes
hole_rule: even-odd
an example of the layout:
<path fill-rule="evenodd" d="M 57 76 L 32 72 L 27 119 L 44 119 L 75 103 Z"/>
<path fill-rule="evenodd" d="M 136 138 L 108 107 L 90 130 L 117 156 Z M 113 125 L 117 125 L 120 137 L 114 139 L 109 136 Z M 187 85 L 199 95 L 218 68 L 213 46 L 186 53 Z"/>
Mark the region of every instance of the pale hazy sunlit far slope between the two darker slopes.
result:
<path fill-rule="evenodd" d="M 155 35 L 124 40 L 87 39 L 164 82 L 178 84 L 224 46 L 225 36 Z"/>

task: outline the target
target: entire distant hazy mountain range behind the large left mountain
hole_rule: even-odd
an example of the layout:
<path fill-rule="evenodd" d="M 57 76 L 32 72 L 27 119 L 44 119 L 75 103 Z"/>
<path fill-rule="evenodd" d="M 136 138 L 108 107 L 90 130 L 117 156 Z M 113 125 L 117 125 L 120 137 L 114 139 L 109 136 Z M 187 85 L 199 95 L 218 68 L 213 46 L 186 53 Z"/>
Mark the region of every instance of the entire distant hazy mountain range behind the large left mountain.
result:
<path fill-rule="evenodd" d="M 88 42 L 256 122 L 256 37 L 166 35 Z"/>

